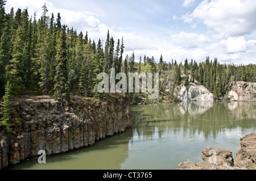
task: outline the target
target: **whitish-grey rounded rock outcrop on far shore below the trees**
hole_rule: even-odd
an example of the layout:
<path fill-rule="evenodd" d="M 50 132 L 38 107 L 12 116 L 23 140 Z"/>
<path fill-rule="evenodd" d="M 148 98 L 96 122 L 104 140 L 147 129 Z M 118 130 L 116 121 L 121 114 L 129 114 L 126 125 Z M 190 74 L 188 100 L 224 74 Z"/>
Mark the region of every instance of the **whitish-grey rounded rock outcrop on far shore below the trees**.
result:
<path fill-rule="evenodd" d="M 180 85 L 175 88 L 174 95 L 181 101 L 213 101 L 215 96 L 199 82 L 189 83 L 185 87 Z"/>

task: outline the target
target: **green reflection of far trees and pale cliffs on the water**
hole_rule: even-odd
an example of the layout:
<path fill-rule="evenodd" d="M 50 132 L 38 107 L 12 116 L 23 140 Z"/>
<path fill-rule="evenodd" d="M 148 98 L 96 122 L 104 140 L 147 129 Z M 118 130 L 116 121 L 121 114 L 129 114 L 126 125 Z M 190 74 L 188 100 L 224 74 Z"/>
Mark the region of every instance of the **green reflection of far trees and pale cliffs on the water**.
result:
<path fill-rule="evenodd" d="M 175 135 L 195 136 L 203 134 L 205 138 L 226 129 L 238 127 L 256 127 L 256 104 L 251 102 L 181 102 L 158 106 L 140 106 L 131 108 L 134 129 L 143 138 L 150 138 L 158 131 Z"/>

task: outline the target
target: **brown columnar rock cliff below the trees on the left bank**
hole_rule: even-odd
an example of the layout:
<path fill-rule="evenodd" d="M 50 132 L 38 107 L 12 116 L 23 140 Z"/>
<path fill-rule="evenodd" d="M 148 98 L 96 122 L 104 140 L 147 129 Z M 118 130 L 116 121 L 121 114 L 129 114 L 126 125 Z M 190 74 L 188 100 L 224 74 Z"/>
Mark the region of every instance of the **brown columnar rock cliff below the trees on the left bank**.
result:
<path fill-rule="evenodd" d="M 0 131 L 0 169 L 38 156 L 39 150 L 57 154 L 93 145 L 106 136 L 132 126 L 129 98 L 89 103 L 72 97 L 72 103 L 43 97 L 16 102 L 14 133 Z"/>

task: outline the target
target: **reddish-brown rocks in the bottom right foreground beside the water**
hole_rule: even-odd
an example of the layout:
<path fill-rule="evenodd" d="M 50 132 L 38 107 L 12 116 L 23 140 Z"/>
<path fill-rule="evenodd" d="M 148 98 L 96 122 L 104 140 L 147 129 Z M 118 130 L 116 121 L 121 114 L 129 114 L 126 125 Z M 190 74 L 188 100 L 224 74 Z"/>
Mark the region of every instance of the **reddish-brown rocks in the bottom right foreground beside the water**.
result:
<path fill-rule="evenodd" d="M 232 151 L 207 146 L 202 149 L 203 162 L 183 162 L 177 166 L 176 170 L 255 170 L 256 134 L 248 134 L 240 140 L 241 149 L 237 151 L 236 165 L 234 165 Z"/>

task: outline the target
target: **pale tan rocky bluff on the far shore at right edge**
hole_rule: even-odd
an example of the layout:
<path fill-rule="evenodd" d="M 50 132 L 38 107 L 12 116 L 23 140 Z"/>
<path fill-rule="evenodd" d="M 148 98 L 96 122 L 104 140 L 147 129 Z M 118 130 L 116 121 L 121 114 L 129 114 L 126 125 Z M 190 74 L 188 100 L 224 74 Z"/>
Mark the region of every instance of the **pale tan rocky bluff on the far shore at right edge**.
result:
<path fill-rule="evenodd" d="M 256 102 L 256 82 L 231 82 L 229 89 L 231 101 Z"/>

